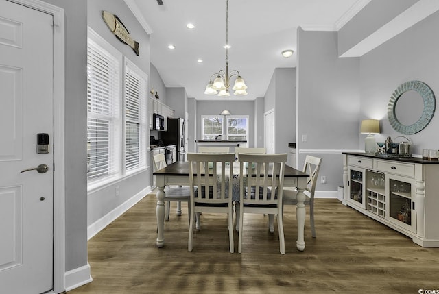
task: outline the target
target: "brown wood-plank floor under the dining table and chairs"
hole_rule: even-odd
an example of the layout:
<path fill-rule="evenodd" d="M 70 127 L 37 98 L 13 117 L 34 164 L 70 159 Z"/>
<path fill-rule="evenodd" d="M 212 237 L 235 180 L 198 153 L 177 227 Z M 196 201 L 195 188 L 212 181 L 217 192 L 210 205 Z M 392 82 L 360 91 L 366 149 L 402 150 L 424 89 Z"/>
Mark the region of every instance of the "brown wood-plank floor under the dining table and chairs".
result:
<path fill-rule="evenodd" d="M 245 215 L 242 254 L 228 252 L 225 215 L 202 215 L 187 251 L 187 206 L 165 222 L 156 247 L 156 199 L 136 206 L 88 241 L 93 282 L 83 293 L 418 293 L 439 289 L 439 248 L 369 219 L 337 199 L 316 199 L 316 234 L 305 223 L 304 252 L 296 249 L 295 208 L 286 206 L 285 255 L 268 217 Z M 439 224 L 438 224 L 439 225 Z M 235 252 L 238 234 L 235 232 Z"/>

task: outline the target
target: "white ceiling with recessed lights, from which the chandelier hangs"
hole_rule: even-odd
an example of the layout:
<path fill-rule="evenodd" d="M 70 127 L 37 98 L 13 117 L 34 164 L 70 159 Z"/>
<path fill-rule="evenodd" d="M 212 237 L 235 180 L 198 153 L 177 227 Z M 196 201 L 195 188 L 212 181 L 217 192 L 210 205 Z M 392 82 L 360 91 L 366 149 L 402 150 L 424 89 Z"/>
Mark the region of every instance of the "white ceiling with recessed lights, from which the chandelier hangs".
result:
<path fill-rule="evenodd" d="M 204 89 L 211 75 L 226 67 L 226 0 L 125 1 L 150 34 L 151 63 L 166 87 L 183 87 L 197 100 L 224 99 L 204 95 Z M 337 31 L 369 1 L 229 0 L 229 72 L 239 71 L 248 95 L 228 99 L 264 97 L 275 68 L 296 66 L 299 26 Z M 187 29 L 187 23 L 195 29 Z M 176 49 L 168 49 L 169 44 Z M 293 56 L 283 58 L 285 49 L 293 49 Z"/>

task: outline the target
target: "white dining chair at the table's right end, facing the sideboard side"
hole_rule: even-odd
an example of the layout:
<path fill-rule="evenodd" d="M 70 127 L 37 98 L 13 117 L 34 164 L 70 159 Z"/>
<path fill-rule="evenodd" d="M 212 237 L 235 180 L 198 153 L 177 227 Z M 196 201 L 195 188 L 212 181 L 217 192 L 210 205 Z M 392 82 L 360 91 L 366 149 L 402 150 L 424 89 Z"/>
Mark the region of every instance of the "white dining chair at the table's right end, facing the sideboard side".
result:
<path fill-rule="evenodd" d="M 308 186 L 304 191 L 305 205 L 309 205 L 309 222 L 311 223 L 311 236 L 316 238 L 316 228 L 314 226 L 314 193 L 316 191 L 316 184 L 318 178 L 318 171 L 322 164 L 322 158 L 309 156 L 305 158 L 303 171 L 309 174 Z M 297 190 L 296 188 L 283 188 L 283 205 L 297 205 Z"/>

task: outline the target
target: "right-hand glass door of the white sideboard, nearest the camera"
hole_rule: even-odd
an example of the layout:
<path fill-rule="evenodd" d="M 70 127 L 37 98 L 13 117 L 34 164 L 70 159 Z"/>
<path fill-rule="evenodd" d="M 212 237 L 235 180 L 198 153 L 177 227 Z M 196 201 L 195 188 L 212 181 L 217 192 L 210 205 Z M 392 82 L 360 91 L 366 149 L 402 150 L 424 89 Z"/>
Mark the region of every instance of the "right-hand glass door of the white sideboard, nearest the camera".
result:
<path fill-rule="evenodd" d="M 416 232 L 414 183 L 407 182 L 407 179 L 389 176 L 388 191 L 388 219 L 407 230 Z"/>

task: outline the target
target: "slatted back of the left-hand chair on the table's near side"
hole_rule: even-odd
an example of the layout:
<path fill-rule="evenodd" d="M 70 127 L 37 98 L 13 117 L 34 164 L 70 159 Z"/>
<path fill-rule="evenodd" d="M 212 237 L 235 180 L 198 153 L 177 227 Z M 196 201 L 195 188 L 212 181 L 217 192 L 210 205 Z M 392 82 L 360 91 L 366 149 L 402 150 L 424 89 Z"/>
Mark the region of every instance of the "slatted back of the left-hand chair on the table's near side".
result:
<path fill-rule="evenodd" d="M 188 153 L 187 160 L 191 201 L 194 204 L 232 202 L 235 154 Z"/>

